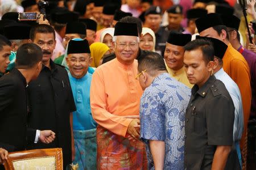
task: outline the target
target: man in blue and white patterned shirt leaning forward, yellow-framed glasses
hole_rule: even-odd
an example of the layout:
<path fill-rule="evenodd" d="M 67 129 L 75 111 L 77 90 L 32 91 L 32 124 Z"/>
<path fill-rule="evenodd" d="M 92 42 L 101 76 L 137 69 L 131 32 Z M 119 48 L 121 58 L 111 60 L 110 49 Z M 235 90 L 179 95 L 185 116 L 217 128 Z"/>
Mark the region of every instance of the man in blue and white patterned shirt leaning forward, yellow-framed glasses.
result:
<path fill-rule="evenodd" d="M 141 139 L 148 169 L 184 169 L 185 109 L 191 90 L 170 77 L 163 57 L 147 53 L 138 60 Z"/>

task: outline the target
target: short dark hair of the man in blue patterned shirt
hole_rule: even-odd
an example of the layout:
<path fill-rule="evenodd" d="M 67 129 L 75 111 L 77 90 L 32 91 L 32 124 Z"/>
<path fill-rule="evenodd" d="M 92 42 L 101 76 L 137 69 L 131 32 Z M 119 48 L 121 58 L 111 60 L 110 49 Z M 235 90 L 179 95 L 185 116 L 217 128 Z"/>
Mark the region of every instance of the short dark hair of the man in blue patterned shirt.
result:
<path fill-rule="evenodd" d="M 146 52 L 138 59 L 138 70 L 147 70 L 151 76 L 155 76 L 157 71 L 167 71 L 164 59 L 155 52 Z"/>

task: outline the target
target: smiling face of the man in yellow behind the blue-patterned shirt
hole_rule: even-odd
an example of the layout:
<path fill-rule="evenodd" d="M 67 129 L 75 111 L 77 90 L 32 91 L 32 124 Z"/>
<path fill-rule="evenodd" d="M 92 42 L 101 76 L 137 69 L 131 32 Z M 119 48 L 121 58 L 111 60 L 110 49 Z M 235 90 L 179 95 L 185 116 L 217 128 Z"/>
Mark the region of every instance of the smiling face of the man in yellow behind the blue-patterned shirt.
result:
<path fill-rule="evenodd" d="M 166 43 L 166 49 L 164 50 L 164 60 L 167 66 L 172 70 L 180 70 L 183 67 L 183 46 L 172 45 Z"/>

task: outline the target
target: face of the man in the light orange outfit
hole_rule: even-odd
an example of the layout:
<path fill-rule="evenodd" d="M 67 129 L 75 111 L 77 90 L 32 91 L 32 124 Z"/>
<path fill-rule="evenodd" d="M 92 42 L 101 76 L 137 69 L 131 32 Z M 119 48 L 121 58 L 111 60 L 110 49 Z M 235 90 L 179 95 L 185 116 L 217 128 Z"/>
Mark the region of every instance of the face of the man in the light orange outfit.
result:
<path fill-rule="evenodd" d="M 117 36 L 115 55 L 119 62 L 131 65 L 137 57 L 139 45 L 136 36 Z"/>

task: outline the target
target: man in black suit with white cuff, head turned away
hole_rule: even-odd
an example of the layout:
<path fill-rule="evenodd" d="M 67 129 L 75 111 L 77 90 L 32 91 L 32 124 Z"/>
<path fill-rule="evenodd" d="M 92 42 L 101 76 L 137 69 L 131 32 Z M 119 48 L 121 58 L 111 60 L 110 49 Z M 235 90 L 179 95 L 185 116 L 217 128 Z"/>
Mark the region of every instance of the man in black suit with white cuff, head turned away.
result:
<path fill-rule="evenodd" d="M 27 129 L 27 84 L 38 77 L 42 57 L 38 45 L 23 44 L 16 54 L 15 69 L 0 79 L 0 147 L 7 151 L 25 150 L 27 142 L 51 143 L 55 139 L 51 130 Z"/>

